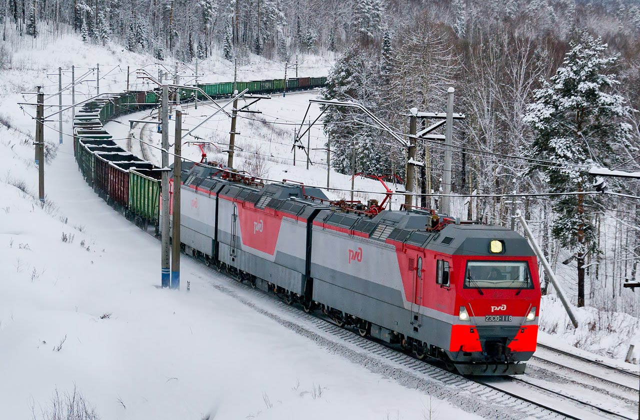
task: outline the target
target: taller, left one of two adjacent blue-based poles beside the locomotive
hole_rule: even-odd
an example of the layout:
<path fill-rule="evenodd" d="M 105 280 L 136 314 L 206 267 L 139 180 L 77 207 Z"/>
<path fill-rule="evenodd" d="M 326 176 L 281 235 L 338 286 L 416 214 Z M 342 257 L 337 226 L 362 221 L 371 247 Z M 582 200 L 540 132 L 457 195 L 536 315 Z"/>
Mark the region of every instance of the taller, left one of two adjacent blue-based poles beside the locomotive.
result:
<path fill-rule="evenodd" d="M 170 286 L 169 267 L 169 82 L 162 85 L 162 270 L 161 281 L 163 287 Z"/>

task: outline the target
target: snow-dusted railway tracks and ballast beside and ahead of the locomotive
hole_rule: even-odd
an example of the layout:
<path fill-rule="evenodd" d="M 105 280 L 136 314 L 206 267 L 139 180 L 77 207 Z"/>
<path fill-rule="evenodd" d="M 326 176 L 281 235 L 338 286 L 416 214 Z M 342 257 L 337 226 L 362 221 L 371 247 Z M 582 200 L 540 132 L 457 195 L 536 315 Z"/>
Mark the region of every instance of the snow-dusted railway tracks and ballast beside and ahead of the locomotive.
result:
<path fill-rule="evenodd" d="M 142 125 L 142 128 L 147 125 Z M 140 128 L 140 127 L 139 127 Z M 77 137 L 77 136 L 76 136 Z M 127 144 L 132 150 L 131 139 Z M 147 160 L 141 145 L 141 154 Z M 147 233 L 150 233 L 145 229 Z M 204 261 L 200 260 L 204 263 Z M 204 264 L 203 264 L 204 265 Z M 393 378 L 406 387 L 417 388 L 435 398 L 447 400 L 452 404 L 475 412 L 480 416 L 502 419 L 634 419 L 620 412 L 609 410 L 609 407 L 598 405 L 570 396 L 550 387 L 540 384 L 535 378 L 499 377 L 499 378 L 468 378 L 452 373 L 435 364 L 428 364 L 415 359 L 413 356 L 398 352 L 396 348 L 363 338 L 356 332 L 349 331 L 336 325 L 332 320 L 320 315 L 319 311 L 308 314 L 294 306 L 287 305 L 280 299 L 274 299 L 273 293 L 264 290 L 252 290 L 248 284 L 237 281 L 221 281 L 218 272 L 214 268 L 208 268 L 216 273 L 205 279 L 207 283 L 221 293 L 239 300 L 248 307 L 261 313 L 287 329 L 291 329 L 315 341 L 319 346 L 326 348 L 333 354 L 361 364 L 374 373 L 379 373 L 388 378 Z M 230 274 L 228 278 L 235 279 Z M 627 392 L 637 391 L 630 384 L 634 380 L 637 384 L 637 373 L 625 369 L 609 366 L 604 362 L 591 361 L 584 357 L 568 354 L 562 350 L 539 345 L 541 348 L 563 357 L 573 357 L 582 363 L 598 366 L 604 371 L 594 372 L 590 369 L 580 369 L 575 366 L 565 366 L 557 360 L 549 360 L 548 357 L 536 357 L 541 363 L 548 363 L 561 368 L 571 369 L 575 373 L 590 377 L 591 380 L 603 381 L 604 384 L 619 386 L 627 389 Z M 615 373 L 607 373 L 609 372 Z M 552 369 L 549 369 L 552 370 Z M 612 378 L 623 375 L 626 380 Z M 622 383 L 621 383 L 622 382 Z"/>

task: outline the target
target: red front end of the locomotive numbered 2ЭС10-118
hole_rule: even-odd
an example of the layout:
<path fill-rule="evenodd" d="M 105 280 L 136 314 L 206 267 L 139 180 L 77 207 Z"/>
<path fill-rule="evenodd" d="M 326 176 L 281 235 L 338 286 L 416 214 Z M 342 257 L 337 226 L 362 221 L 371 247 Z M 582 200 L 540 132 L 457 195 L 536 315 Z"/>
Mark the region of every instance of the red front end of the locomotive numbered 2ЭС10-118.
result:
<path fill-rule="evenodd" d="M 452 255 L 458 319 L 447 355 L 463 375 L 522 374 L 538 338 L 536 257 L 515 232 L 468 233 Z"/>

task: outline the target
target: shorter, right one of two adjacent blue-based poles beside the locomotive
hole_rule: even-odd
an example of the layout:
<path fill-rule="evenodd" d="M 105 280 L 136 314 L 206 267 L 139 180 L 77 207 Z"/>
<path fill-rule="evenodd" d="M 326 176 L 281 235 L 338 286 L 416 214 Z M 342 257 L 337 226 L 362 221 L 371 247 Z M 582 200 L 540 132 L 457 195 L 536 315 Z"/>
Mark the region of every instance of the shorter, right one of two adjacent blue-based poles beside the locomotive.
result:
<path fill-rule="evenodd" d="M 182 182 L 182 107 L 175 107 L 175 143 L 173 144 L 173 244 L 171 288 L 180 289 L 180 183 Z"/>

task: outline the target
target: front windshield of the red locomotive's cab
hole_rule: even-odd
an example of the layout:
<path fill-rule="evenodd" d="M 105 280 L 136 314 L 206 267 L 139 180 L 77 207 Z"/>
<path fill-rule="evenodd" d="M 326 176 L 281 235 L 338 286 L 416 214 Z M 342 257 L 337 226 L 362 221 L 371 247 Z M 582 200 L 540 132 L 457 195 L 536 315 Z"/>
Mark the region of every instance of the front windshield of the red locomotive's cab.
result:
<path fill-rule="evenodd" d="M 465 288 L 533 288 L 529 265 L 525 261 L 468 261 Z"/>

